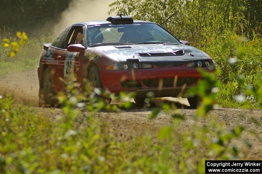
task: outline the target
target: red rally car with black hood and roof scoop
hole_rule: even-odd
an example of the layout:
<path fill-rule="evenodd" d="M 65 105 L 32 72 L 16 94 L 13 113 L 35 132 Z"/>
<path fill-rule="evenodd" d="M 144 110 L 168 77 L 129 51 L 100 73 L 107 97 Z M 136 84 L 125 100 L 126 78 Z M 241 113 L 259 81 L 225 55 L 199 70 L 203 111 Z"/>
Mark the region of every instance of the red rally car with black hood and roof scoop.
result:
<path fill-rule="evenodd" d="M 82 22 L 68 27 L 53 43 L 43 44 L 39 101 L 52 106 L 51 96 L 65 87 L 60 78 L 66 81 L 73 72 L 82 89 L 86 78 L 94 87 L 116 95 L 136 91 L 135 102 L 142 105 L 149 91 L 155 97 L 181 95 L 181 90 L 201 79 L 197 67 L 212 71 L 214 66 L 207 53 L 179 41 L 154 22 L 121 15 Z M 196 107 L 199 99 L 188 101 Z"/>

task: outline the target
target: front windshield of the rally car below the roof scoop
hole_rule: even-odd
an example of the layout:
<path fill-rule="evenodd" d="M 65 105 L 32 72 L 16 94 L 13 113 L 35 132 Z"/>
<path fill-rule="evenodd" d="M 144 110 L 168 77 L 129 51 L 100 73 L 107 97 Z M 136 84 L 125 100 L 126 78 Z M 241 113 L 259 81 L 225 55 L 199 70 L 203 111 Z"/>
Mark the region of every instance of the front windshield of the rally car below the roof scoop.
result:
<path fill-rule="evenodd" d="M 99 45 L 179 43 L 162 27 L 152 23 L 88 26 L 88 47 Z"/>

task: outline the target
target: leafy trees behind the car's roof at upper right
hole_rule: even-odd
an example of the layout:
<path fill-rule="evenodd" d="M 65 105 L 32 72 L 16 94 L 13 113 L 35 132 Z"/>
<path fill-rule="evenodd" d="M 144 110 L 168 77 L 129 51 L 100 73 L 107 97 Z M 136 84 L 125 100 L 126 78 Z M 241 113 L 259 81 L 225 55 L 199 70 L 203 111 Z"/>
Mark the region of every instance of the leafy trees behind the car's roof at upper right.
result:
<path fill-rule="evenodd" d="M 256 0 L 249 0 L 256 1 Z M 247 3 L 241 0 L 118 0 L 108 12 L 132 15 L 134 19 L 149 20 L 163 25 L 180 39 L 195 46 L 206 39 L 223 35 L 224 30 L 236 34 L 248 30 Z M 246 6 L 245 6 L 246 5 Z M 244 26 L 244 27 L 243 27 Z"/>

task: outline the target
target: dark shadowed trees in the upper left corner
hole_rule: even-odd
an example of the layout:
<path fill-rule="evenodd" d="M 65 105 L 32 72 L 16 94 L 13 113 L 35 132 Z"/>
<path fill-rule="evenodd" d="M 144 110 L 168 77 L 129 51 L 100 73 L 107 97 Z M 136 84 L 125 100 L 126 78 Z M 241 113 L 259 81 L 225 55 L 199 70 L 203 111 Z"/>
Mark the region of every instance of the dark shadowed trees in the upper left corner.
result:
<path fill-rule="evenodd" d="M 27 33 L 41 29 L 48 21 L 58 19 L 71 0 L 8 0 L 0 6 L 0 27 Z M 8 19 L 8 20 L 7 20 Z"/>

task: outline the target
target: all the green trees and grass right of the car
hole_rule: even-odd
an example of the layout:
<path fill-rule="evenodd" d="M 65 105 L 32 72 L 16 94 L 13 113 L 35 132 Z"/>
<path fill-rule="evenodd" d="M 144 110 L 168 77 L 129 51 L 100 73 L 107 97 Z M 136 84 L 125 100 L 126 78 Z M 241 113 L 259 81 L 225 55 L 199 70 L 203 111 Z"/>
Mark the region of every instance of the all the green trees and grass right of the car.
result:
<path fill-rule="evenodd" d="M 260 0 L 124 0 L 109 6 L 112 9 L 108 14 L 116 12 L 156 22 L 180 40 L 187 40 L 211 55 L 222 83 L 216 94 L 220 106 L 258 108 L 262 104 L 261 98 L 248 94 L 245 98 L 248 104 L 245 100 L 235 100 L 235 95 L 247 86 L 258 87 L 261 81 Z M 230 59 L 235 60 L 234 66 Z M 241 77 L 241 84 L 235 77 Z"/>

